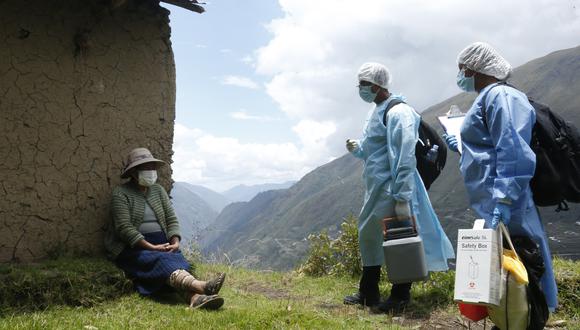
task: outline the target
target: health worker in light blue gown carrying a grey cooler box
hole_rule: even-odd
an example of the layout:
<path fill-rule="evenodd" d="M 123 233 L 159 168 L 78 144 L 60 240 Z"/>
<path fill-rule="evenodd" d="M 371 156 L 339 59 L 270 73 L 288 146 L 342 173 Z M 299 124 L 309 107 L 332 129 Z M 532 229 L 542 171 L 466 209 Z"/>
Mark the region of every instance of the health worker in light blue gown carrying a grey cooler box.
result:
<path fill-rule="evenodd" d="M 427 268 L 446 271 L 447 259 L 454 258 L 453 247 L 445 235 L 416 167 L 415 145 L 420 116 L 405 103 L 388 110 L 389 103 L 402 96 L 389 92 L 390 73 L 378 63 L 363 64 L 358 72 L 359 95 L 375 103 L 369 112 L 360 140 L 347 140 L 347 149 L 364 161 L 364 205 L 359 215 L 359 243 L 363 273 L 357 293 L 344 299 L 346 304 L 377 306 L 394 312 L 410 300 L 412 283 L 395 284 L 386 301 L 380 302 L 378 283 L 384 263 L 382 219 L 414 215 L 423 239 Z M 400 256 L 405 262 L 405 256 Z"/>

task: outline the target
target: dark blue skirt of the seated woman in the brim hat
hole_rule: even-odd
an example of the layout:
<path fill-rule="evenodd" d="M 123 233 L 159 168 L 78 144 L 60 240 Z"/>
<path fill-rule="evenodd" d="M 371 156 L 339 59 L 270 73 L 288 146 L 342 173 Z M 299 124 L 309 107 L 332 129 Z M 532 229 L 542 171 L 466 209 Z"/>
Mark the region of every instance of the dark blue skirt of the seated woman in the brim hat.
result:
<path fill-rule="evenodd" d="M 163 232 L 144 234 L 151 244 L 168 243 Z M 167 280 L 178 269 L 189 270 L 189 263 L 180 251 L 159 252 L 140 248 L 126 248 L 119 254 L 115 263 L 129 277 L 135 289 L 142 295 L 170 289 Z"/>

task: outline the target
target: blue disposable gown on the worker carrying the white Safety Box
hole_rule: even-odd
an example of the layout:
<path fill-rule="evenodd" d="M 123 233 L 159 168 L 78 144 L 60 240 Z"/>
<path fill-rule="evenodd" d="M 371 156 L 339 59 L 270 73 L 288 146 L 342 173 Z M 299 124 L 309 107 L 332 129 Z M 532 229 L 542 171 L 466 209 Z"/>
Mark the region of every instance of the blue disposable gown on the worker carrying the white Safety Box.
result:
<path fill-rule="evenodd" d="M 529 146 L 536 115 L 525 94 L 494 85 L 479 93 L 465 116 L 461 173 L 471 206 L 488 227 L 498 199 L 512 201 L 508 229 L 539 244 L 546 266 L 541 286 L 553 311 L 558 300 L 552 257 L 529 185 L 536 167 L 536 155 Z M 482 119 L 484 107 L 487 126 Z"/>

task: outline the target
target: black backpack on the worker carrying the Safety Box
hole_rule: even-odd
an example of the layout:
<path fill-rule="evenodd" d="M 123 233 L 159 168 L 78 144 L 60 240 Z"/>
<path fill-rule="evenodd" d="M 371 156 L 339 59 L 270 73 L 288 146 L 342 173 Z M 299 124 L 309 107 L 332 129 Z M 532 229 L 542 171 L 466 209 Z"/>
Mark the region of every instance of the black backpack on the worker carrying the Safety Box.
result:
<path fill-rule="evenodd" d="M 499 85 L 515 88 L 507 83 Z M 580 203 L 580 131 L 547 105 L 528 101 L 536 112 L 530 141 L 536 154 L 536 171 L 530 181 L 534 202 L 538 206 L 557 205 L 556 212 L 566 211 L 566 201 Z M 485 108 L 482 117 L 487 127 Z"/>

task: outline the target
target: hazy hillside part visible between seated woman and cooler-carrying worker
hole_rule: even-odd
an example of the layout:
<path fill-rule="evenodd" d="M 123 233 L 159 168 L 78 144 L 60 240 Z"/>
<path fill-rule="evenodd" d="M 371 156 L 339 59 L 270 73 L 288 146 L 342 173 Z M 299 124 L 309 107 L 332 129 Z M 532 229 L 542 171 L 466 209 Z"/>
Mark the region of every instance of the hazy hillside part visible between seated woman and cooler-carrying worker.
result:
<path fill-rule="evenodd" d="M 289 189 L 227 206 L 200 239 L 205 253 L 227 253 L 247 266 L 289 268 L 307 250 L 305 237 L 336 231 L 362 200 L 360 161 L 347 155 L 307 174 Z"/>

